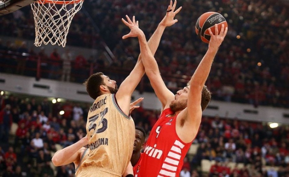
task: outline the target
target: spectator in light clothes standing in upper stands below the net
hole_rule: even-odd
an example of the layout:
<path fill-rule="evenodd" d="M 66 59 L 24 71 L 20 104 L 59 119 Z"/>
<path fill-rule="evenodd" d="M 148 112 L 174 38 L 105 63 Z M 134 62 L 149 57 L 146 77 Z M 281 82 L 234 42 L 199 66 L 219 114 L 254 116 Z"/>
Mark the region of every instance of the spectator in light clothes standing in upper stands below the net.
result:
<path fill-rule="evenodd" d="M 65 50 L 65 53 L 62 54 L 61 59 L 63 61 L 61 80 L 69 82 L 71 72 L 71 60 L 72 60 L 72 56 L 69 49 Z"/>

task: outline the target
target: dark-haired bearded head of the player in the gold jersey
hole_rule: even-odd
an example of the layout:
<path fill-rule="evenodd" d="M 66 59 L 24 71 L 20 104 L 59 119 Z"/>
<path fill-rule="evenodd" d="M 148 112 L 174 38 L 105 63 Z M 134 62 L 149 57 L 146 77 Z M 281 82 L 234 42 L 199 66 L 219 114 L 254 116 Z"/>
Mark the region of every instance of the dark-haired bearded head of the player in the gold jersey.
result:
<path fill-rule="evenodd" d="M 85 82 L 86 91 L 94 100 L 105 93 L 116 93 L 117 84 L 102 72 L 91 75 Z"/>

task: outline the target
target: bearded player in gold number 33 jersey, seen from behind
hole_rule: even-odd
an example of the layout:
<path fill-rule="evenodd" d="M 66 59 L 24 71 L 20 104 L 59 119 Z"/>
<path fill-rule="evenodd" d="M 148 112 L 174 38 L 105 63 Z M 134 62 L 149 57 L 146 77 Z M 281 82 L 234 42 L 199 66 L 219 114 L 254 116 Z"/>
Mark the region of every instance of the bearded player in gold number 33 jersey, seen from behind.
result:
<path fill-rule="evenodd" d="M 179 10 L 178 10 L 179 11 Z M 177 14 L 177 13 L 175 13 Z M 95 101 L 87 119 L 89 135 L 89 157 L 82 163 L 81 176 L 122 176 L 127 166 L 131 168 L 130 158 L 135 139 L 134 122 L 128 115 L 129 101 L 135 87 L 144 75 L 141 61 L 153 54 L 158 48 L 160 38 L 166 26 L 177 22 L 174 16 L 165 16 L 157 30 L 146 42 L 144 33 L 138 28 L 135 17 L 131 21 L 122 21 L 131 29 L 123 36 L 138 37 L 141 55 L 130 75 L 122 82 L 117 91 L 117 84 L 108 76 L 99 72 L 90 76 L 85 82 L 86 90 Z M 128 165 L 129 164 L 129 165 Z"/>

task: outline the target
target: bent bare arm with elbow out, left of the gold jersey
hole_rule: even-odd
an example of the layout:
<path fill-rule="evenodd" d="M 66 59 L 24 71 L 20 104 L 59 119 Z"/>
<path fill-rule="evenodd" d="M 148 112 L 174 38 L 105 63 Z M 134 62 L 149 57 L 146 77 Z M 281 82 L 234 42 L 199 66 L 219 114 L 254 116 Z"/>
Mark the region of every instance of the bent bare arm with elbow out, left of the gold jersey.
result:
<path fill-rule="evenodd" d="M 65 147 L 55 152 L 52 157 L 52 163 L 54 166 L 62 166 L 70 163 L 77 163 L 81 158 L 81 148 L 88 144 L 88 137 L 81 138 L 78 142 Z"/>

